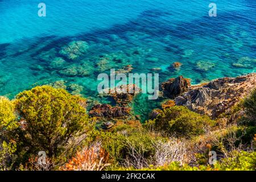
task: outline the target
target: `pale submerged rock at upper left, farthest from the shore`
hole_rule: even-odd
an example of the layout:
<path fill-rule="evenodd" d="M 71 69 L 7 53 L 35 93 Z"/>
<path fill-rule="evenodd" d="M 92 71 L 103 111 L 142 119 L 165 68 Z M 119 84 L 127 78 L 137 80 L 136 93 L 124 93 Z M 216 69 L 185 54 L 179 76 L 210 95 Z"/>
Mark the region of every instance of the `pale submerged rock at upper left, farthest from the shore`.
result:
<path fill-rule="evenodd" d="M 87 51 L 89 45 L 85 41 L 72 41 L 68 46 L 60 50 L 60 54 L 66 56 L 68 59 L 75 60 Z"/>

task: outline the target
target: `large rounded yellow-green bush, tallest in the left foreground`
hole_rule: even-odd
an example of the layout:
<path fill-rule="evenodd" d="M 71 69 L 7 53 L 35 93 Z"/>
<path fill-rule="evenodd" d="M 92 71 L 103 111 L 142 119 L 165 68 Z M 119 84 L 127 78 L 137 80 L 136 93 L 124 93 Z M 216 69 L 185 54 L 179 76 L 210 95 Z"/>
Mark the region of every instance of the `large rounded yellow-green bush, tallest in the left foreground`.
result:
<path fill-rule="evenodd" d="M 84 102 L 64 89 L 46 85 L 19 93 L 15 104 L 22 125 L 20 147 L 27 149 L 26 154 L 46 151 L 49 158 L 59 156 L 70 139 L 87 129 Z"/>

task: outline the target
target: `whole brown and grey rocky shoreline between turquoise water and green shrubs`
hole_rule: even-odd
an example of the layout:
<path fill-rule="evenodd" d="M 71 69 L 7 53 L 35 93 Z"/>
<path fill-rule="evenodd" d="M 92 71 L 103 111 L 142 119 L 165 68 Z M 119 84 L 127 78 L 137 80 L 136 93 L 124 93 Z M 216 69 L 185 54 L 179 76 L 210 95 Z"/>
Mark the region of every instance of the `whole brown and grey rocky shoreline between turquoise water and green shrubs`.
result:
<path fill-rule="evenodd" d="M 222 113 L 228 113 L 242 98 L 246 97 L 256 86 L 256 73 L 235 78 L 224 77 L 200 85 L 191 85 L 189 78 L 179 76 L 162 83 L 162 110 L 172 106 L 186 106 L 199 114 L 206 114 L 216 119 Z M 89 111 L 90 117 L 106 119 L 139 120 L 132 114 L 131 102 L 134 94 L 113 94 L 109 96 L 117 102 L 116 106 L 98 104 Z M 148 116 L 154 119 L 162 112 L 154 109 Z"/>

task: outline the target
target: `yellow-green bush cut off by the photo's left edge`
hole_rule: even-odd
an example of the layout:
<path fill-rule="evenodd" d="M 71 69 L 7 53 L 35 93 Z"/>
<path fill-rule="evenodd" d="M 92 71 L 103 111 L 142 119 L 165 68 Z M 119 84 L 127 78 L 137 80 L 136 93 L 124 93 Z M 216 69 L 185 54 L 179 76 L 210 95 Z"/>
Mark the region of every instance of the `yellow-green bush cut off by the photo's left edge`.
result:
<path fill-rule="evenodd" d="M 6 97 L 0 96 L 0 170 L 11 166 L 16 144 L 10 141 L 10 132 L 18 127 L 14 104 Z"/>

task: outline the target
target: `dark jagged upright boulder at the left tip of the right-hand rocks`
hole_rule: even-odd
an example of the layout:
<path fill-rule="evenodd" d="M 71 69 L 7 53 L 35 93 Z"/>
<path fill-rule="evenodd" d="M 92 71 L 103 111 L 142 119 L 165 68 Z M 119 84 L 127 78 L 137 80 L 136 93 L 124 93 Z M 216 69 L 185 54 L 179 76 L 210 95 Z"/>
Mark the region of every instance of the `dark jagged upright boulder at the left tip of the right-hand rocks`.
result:
<path fill-rule="evenodd" d="M 169 98 L 175 98 L 180 94 L 187 92 L 190 86 L 190 80 L 179 76 L 177 78 L 171 78 L 166 82 L 163 82 L 161 87 L 163 89 L 164 96 Z"/>

